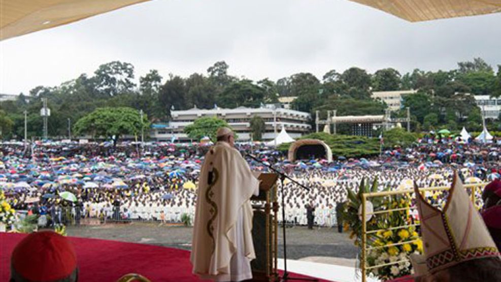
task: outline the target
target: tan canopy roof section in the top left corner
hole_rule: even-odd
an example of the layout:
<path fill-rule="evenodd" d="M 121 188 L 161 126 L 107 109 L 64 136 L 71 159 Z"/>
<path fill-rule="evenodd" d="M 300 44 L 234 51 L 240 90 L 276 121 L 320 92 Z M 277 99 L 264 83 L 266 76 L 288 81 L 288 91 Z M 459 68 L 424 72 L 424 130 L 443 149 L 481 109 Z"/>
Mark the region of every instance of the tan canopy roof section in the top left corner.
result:
<path fill-rule="evenodd" d="M 71 23 L 148 0 L 0 0 L 0 40 Z"/>

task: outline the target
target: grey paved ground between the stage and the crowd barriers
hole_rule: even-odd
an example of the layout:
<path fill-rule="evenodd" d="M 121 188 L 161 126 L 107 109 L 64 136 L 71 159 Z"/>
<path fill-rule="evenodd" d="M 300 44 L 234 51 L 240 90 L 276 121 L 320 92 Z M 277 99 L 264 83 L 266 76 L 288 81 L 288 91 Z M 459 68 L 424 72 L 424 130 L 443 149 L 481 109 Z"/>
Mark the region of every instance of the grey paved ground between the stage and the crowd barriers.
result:
<path fill-rule="evenodd" d="M 159 224 L 131 223 L 68 227 L 69 236 L 101 238 L 126 242 L 191 248 L 192 228 Z M 346 233 L 333 228 L 287 228 L 287 258 L 353 266 L 356 247 Z M 283 258 L 282 230 L 279 232 L 279 257 Z"/>

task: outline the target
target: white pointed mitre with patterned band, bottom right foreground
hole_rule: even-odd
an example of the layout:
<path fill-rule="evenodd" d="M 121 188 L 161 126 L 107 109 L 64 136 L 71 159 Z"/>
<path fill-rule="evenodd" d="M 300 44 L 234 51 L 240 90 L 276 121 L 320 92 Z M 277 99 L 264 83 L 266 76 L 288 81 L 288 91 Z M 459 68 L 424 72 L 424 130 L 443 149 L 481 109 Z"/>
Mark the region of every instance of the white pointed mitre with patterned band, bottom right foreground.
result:
<path fill-rule="evenodd" d="M 480 213 L 454 174 L 443 210 L 431 206 L 414 186 L 426 266 L 430 273 L 473 259 L 499 257 Z"/>

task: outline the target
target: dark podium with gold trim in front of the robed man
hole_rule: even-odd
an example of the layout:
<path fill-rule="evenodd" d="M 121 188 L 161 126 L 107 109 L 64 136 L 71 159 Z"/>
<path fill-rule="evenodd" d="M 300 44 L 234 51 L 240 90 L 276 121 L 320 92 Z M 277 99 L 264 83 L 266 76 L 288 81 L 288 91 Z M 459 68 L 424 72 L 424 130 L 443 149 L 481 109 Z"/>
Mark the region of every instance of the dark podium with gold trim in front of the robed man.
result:
<path fill-rule="evenodd" d="M 251 262 L 252 280 L 255 282 L 278 281 L 278 201 L 276 173 L 254 175 L 261 180 L 259 195 L 252 196 L 252 240 L 256 259 Z"/>

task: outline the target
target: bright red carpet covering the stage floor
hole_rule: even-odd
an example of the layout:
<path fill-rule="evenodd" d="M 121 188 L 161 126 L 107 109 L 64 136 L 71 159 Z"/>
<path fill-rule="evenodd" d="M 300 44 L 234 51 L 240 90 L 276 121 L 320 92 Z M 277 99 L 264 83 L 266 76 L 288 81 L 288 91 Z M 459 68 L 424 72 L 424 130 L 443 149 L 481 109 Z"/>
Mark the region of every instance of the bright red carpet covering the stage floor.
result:
<path fill-rule="evenodd" d="M 10 257 L 25 234 L 0 232 L 0 281 L 10 277 Z M 189 252 L 146 244 L 68 237 L 77 252 L 79 282 L 114 282 L 139 273 L 153 282 L 202 281 L 191 274 Z M 36 255 L 36 254 L 34 254 Z M 291 277 L 302 277 L 292 274 Z"/>

